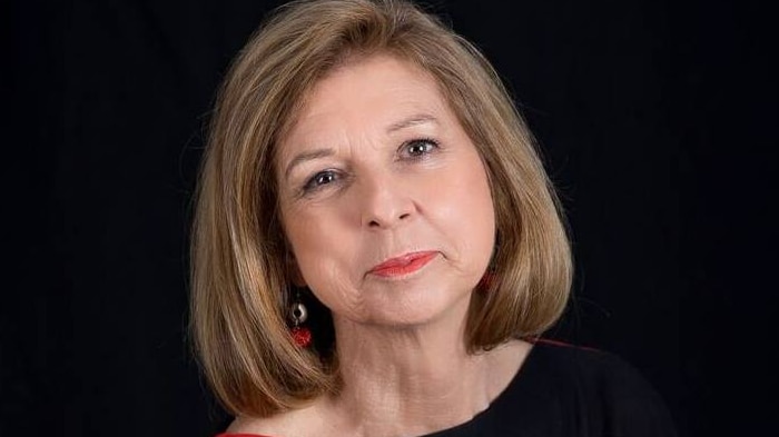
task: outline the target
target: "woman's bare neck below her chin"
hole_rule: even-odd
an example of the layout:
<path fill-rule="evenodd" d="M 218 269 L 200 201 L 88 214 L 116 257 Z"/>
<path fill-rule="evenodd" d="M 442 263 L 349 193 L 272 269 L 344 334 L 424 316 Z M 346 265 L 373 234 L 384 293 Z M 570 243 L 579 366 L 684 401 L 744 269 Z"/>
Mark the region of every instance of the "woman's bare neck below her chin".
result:
<path fill-rule="evenodd" d="M 333 406 L 355 435 L 426 434 L 489 406 L 491 360 L 467 354 L 465 312 L 403 328 L 335 324 L 344 384 Z"/>

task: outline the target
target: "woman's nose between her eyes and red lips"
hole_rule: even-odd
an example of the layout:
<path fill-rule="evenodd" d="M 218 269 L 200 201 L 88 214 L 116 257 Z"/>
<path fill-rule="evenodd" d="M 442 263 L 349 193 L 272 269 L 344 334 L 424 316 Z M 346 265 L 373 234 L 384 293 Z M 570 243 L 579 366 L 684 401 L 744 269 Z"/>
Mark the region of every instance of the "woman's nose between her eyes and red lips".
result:
<path fill-rule="evenodd" d="M 369 229 L 391 229 L 415 215 L 413 192 L 397 178 L 373 175 L 359 192 L 362 224 Z"/>

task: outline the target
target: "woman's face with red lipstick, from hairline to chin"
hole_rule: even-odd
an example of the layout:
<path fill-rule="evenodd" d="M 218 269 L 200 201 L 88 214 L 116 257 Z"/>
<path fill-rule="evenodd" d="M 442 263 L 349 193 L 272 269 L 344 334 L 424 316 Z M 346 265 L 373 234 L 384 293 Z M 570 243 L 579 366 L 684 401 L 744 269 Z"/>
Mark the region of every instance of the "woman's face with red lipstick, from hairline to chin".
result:
<path fill-rule="evenodd" d="M 465 316 L 494 209 L 482 160 L 430 76 L 388 56 L 338 68 L 307 96 L 276 163 L 297 268 L 335 318 Z"/>

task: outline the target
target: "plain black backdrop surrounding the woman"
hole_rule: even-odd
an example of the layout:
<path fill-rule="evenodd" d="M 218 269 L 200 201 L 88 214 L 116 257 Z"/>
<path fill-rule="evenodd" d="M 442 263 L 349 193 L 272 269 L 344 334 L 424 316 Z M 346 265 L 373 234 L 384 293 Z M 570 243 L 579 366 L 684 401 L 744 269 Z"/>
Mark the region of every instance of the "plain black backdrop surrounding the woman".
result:
<path fill-rule="evenodd" d="M 186 342 L 205 122 L 263 1 L 1 7 L 0 435 L 209 436 Z M 574 300 L 684 436 L 777 429 L 776 13 L 747 1 L 434 1 L 560 187 Z M 770 4 L 770 3 L 766 3 Z"/>

